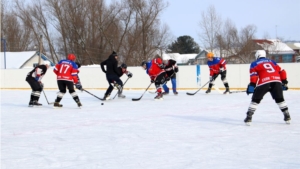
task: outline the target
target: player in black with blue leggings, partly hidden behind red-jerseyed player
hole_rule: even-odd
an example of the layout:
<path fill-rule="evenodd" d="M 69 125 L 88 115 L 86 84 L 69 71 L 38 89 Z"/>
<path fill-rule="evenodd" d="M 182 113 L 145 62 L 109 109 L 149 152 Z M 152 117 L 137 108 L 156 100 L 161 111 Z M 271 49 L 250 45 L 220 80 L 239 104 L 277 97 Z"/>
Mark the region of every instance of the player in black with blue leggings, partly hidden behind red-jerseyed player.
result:
<path fill-rule="evenodd" d="M 177 95 L 178 92 L 176 90 L 176 73 L 178 72 L 178 66 L 176 64 L 176 61 L 173 59 L 167 60 L 167 63 L 165 64 L 165 71 L 167 74 L 166 81 L 171 80 L 173 93 Z M 167 83 L 164 83 L 163 89 L 165 91 L 163 94 L 169 94 Z"/>

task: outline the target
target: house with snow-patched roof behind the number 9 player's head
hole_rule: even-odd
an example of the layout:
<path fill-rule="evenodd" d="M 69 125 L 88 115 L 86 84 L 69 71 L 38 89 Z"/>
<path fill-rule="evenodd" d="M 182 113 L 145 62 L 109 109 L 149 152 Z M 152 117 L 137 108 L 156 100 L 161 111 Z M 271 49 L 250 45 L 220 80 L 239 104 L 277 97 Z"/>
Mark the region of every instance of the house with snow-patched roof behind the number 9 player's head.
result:
<path fill-rule="evenodd" d="M 279 63 L 296 61 L 295 51 L 278 39 L 253 39 L 258 45 L 268 52 L 268 58 Z"/>

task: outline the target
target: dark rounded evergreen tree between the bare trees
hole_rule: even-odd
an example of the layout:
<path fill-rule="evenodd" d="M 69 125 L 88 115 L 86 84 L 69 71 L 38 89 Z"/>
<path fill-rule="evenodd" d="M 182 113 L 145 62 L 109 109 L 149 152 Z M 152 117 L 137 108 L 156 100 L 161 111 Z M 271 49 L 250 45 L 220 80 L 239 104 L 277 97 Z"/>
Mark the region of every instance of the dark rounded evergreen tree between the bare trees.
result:
<path fill-rule="evenodd" d="M 180 36 L 172 44 L 168 45 L 168 53 L 180 53 L 180 54 L 189 54 L 189 53 L 199 53 L 200 47 L 190 36 Z"/>

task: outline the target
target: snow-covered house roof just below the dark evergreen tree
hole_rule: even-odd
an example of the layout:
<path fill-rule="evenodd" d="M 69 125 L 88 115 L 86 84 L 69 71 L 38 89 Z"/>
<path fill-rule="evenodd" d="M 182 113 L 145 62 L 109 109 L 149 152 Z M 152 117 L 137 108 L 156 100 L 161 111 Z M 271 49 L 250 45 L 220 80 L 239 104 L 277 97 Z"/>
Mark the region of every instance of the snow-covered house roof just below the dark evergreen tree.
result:
<path fill-rule="evenodd" d="M 188 65 L 190 59 L 195 59 L 197 56 L 194 54 L 179 54 L 179 53 L 163 53 L 163 60 L 173 59 L 176 60 L 177 65 Z"/>

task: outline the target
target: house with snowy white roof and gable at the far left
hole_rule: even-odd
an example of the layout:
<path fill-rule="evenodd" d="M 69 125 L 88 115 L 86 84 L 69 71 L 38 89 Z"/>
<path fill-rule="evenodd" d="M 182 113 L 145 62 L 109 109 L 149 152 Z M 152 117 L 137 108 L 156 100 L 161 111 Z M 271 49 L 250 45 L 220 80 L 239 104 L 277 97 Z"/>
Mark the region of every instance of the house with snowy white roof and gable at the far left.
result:
<path fill-rule="evenodd" d="M 51 66 L 54 66 L 54 63 L 44 54 L 42 54 L 41 59 L 42 62 L 50 61 Z M 1 69 L 32 68 L 38 61 L 39 53 L 37 51 L 1 52 Z"/>

